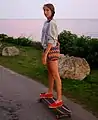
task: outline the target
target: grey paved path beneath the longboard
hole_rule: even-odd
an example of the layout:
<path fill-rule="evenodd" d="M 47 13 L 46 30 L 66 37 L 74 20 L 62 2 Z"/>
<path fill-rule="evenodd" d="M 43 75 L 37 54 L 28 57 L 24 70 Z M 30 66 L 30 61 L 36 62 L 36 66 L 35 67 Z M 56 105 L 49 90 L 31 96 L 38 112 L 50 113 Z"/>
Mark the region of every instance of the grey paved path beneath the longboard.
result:
<path fill-rule="evenodd" d="M 0 66 L 0 120 L 55 120 L 43 104 L 37 103 L 40 92 L 45 90 L 44 85 Z M 63 98 L 73 112 L 72 120 L 98 120 Z"/>

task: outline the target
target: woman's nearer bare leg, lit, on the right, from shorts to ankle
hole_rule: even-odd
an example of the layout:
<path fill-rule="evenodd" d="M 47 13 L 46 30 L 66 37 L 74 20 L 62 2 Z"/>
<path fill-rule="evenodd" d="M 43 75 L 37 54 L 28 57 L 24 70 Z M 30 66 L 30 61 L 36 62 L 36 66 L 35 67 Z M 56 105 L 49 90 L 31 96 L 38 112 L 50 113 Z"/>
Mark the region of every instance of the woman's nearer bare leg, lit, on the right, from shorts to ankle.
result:
<path fill-rule="evenodd" d="M 57 88 L 57 100 L 62 100 L 62 83 L 58 71 L 58 60 L 56 61 L 50 61 L 49 62 L 49 68 L 51 71 L 51 74 L 53 76 L 53 79 L 56 81 L 56 88 Z"/>

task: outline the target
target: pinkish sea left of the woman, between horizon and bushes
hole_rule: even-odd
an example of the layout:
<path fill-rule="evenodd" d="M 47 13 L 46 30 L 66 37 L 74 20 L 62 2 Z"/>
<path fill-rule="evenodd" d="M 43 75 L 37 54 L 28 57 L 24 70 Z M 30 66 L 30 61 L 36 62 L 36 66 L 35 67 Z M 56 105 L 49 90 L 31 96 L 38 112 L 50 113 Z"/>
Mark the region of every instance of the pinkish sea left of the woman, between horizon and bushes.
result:
<path fill-rule="evenodd" d="M 12 36 L 22 34 L 34 36 L 42 25 L 43 20 L 40 20 L 40 22 L 38 20 L 0 20 L 0 32 Z"/>

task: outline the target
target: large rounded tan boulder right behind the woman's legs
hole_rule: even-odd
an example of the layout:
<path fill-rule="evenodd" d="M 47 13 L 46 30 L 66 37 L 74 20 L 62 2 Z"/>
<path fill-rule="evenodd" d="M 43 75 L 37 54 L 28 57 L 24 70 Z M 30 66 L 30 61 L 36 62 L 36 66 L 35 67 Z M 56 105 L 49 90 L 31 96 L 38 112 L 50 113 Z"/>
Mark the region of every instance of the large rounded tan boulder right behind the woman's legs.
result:
<path fill-rule="evenodd" d="M 62 78 L 83 80 L 90 74 L 90 66 L 84 58 L 61 55 L 59 73 Z"/>

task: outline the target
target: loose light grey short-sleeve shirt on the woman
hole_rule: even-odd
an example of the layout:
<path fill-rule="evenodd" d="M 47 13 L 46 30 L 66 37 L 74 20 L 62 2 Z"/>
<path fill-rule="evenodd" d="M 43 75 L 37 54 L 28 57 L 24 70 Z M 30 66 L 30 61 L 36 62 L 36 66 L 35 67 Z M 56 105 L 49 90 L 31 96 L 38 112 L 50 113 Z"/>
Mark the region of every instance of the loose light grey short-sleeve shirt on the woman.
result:
<path fill-rule="evenodd" d="M 58 28 L 56 21 L 52 19 L 51 21 L 45 21 L 42 29 L 41 43 L 43 49 L 47 48 L 48 43 L 51 43 L 52 46 L 56 46 L 58 39 Z"/>

